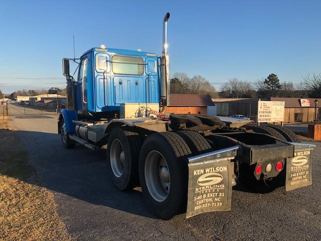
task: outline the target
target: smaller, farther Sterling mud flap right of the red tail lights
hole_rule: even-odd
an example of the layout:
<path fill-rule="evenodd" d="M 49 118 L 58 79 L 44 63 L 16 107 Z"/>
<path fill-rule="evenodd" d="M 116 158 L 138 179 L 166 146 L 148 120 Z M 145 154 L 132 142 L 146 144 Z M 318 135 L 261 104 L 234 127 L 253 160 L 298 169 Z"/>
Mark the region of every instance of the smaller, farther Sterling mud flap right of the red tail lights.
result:
<path fill-rule="evenodd" d="M 311 151 L 315 148 L 315 145 L 291 144 L 294 145 L 294 156 L 286 159 L 286 191 L 312 184 Z"/>

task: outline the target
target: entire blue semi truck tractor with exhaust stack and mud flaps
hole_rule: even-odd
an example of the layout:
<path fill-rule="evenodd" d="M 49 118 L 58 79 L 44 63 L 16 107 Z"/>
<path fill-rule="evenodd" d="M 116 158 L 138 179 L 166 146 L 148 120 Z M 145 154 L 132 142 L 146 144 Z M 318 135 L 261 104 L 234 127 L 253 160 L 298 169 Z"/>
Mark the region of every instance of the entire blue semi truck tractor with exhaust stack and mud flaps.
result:
<path fill-rule="evenodd" d="M 230 210 L 232 186 L 240 182 L 263 193 L 310 185 L 313 145 L 299 143 L 290 130 L 223 116 L 167 113 L 169 18 L 167 13 L 161 57 L 101 45 L 80 58 L 63 59 L 62 145 L 106 146 L 114 186 L 141 187 L 148 207 L 162 219 Z M 76 78 L 70 61 L 78 64 Z"/>

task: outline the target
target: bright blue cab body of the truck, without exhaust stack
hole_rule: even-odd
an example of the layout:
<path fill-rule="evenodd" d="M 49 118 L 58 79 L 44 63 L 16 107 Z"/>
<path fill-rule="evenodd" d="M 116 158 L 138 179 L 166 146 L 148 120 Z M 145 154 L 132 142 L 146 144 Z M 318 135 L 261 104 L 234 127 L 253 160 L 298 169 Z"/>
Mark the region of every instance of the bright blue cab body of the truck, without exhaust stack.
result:
<path fill-rule="evenodd" d="M 68 108 L 61 111 L 68 133 L 74 132 L 72 121 L 79 116 L 114 117 L 123 103 L 159 103 L 156 54 L 102 45 L 86 51 L 79 61 L 78 77 L 69 94 L 74 106 L 67 104 Z"/>

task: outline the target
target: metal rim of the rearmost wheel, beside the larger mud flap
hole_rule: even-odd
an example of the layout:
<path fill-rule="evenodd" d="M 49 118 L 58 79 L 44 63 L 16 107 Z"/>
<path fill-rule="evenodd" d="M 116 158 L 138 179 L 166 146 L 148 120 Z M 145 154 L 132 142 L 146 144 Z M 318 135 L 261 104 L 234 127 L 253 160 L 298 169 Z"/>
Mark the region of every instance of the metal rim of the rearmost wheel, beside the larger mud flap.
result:
<path fill-rule="evenodd" d="M 157 151 L 148 153 L 144 171 L 149 194 L 157 202 L 164 201 L 171 186 L 171 175 L 164 156 Z"/>

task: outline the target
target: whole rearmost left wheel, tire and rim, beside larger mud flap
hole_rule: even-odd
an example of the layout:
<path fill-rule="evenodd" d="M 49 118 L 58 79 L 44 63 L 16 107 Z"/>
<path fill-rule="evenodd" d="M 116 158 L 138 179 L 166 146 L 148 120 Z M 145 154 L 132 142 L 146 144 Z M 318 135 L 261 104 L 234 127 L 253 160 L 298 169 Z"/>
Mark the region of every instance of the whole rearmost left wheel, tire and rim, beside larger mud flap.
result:
<path fill-rule="evenodd" d="M 149 209 L 168 220 L 186 211 L 188 165 L 191 150 L 173 132 L 152 134 L 139 156 L 139 180 Z"/>

